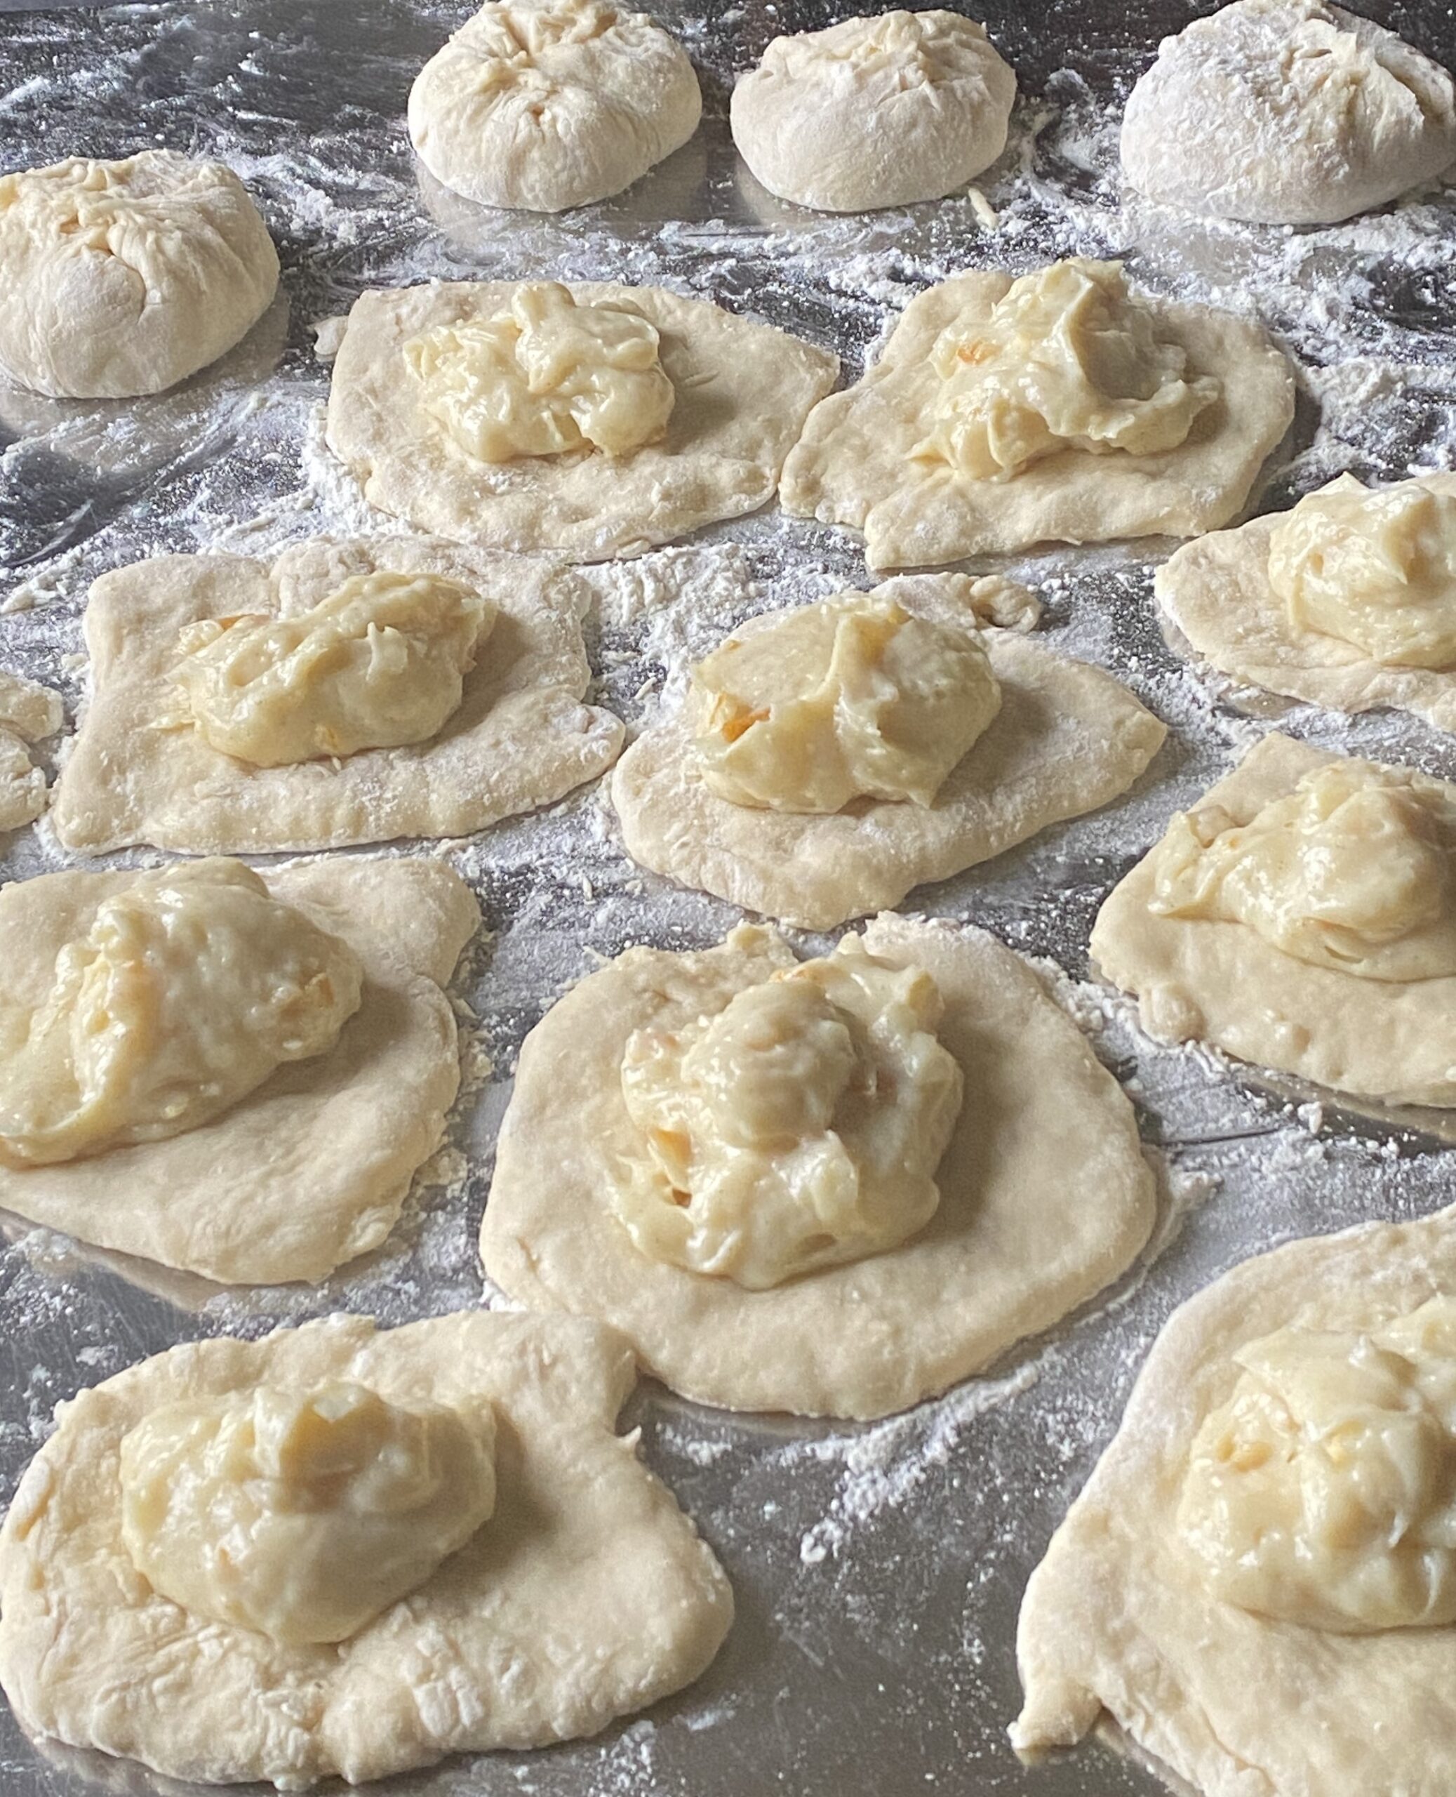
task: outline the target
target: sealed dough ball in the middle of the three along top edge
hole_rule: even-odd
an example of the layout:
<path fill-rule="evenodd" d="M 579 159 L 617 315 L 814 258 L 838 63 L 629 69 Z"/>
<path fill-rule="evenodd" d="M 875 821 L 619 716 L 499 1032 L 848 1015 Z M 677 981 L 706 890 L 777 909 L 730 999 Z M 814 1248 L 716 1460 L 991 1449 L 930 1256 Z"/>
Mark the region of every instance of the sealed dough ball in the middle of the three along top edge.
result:
<path fill-rule="evenodd" d="M 732 90 L 732 140 L 801 207 L 939 199 L 1000 156 L 1016 75 L 959 13 L 881 13 L 774 38 Z"/>

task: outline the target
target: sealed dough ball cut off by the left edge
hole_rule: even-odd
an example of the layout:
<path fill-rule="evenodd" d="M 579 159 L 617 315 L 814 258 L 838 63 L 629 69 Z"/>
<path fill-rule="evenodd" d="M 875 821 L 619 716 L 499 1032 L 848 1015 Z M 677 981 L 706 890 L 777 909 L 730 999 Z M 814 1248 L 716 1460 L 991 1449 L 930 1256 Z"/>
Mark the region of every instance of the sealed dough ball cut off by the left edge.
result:
<path fill-rule="evenodd" d="M 0 376 L 59 399 L 160 394 L 233 347 L 278 253 L 221 162 L 144 149 L 0 180 Z"/>

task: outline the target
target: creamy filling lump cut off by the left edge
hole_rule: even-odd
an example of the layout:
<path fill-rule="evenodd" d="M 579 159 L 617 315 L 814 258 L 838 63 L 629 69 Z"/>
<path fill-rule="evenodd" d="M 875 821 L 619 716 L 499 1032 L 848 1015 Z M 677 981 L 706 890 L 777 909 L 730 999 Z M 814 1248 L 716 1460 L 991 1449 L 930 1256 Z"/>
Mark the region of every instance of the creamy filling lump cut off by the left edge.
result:
<path fill-rule="evenodd" d="M 327 1053 L 361 981 L 348 943 L 241 861 L 138 873 L 56 956 L 41 1005 L 0 1008 L 0 1159 L 196 1129 L 284 1062 Z"/>

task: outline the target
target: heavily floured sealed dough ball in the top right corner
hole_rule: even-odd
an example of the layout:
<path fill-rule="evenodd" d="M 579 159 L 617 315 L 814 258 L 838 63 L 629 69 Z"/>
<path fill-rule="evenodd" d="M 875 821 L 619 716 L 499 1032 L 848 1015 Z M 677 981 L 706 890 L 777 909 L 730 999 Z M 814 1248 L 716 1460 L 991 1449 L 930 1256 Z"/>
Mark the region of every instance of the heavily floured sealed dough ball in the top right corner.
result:
<path fill-rule="evenodd" d="M 1165 38 L 1122 119 L 1133 187 L 1257 225 L 1334 225 L 1452 160 L 1451 75 L 1321 0 L 1235 0 Z"/>

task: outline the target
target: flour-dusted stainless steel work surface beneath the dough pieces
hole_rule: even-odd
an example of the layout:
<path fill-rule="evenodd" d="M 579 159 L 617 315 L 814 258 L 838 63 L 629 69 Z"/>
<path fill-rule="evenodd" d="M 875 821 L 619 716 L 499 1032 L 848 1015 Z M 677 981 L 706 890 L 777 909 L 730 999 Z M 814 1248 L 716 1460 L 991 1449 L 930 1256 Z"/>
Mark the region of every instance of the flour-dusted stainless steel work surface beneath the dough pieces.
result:
<path fill-rule="evenodd" d="M 327 392 L 309 325 L 364 286 L 472 273 L 666 280 L 797 329 L 853 365 L 889 313 L 946 271 L 1025 268 L 1072 248 L 1127 252 L 1154 288 L 1259 309 L 1314 370 L 1296 460 L 1260 503 L 1287 503 L 1339 465 L 1391 476 L 1452 465 L 1451 198 L 1307 234 L 1199 226 L 1120 203 L 1120 97 L 1156 40 L 1205 5 L 977 5 L 1023 92 L 1011 149 L 982 183 L 996 230 L 978 223 L 969 199 L 817 219 L 756 190 L 727 137 L 731 72 L 774 31 L 833 16 L 758 0 L 707 16 L 691 4 L 659 5 L 698 61 L 709 117 L 634 192 L 548 221 L 479 214 L 433 183 L 420 187 L 402 124 L 415 70 L 467 11 L 440 0 L 241 0 L 7 11 L 0 20 L 0 167 L 153 142 L 210 151 L 251 183 L 284 257 L 287 307 L 178 395 L 135 406 L 0 395 L 0 598 L 18 591 L 31 606 L 0 615 L 0 658 L 63 685 L 72 710 L 84 588 L 108 566 L 223 534 L 268 550 L 350 528 L 354 512 L 309 444 Z M 1451 54 L 1443 0 L 1366 11 Z M 257 530 L 235 528 L 253 518 Z M 1074 979 L 1086 976 L 1086 933 L 1102 895 L 1250 728 L 1280 717 L 1300 735 L 1456 773 L 1451 739 L 1415 722 L 1348 724 L 1187 672 L 1151 609 L 1149 575 L 1165 552 L 1135 544 L 1018 564 L 1047 582 L 1050 640 L 1117 670 L 1172 722 L 1174 740 L 1149 778 L 1108 814 L 917 895 L 926 909 L 973 918 L 1052 958 Z M 684 589 L 679 634 L 689 645 L 716 627 L 695 597 L 715 579 L 729 611 L 822 591 L 835 577 L 865 580 L 851 539 L 772 510 L 704 534 L 689 557 L 641 566 L 643 582 Z M 759 580 L 756 593 L 741 588 L 745 575 Z M 661 607 L 646 627 L 623 616 L 636 579 L 600 577 L 607 624 L 598 645 L 607 703 L 634 719 L 671 634 Z M 731 922 L 729 907 L 637 875 L 592 796 L 452 854 L 485 904 L 490 936 L 460 992 L 497 1069 L 456 1111 L 452 1141 L 469 1155 L 469 1175 L 442 1168 L 443 1184 L 418 1193 L 399 1240 L 323 1290 L 219 1294 L 13 1224 L 0 1249 L 0 1495 L 43 1439 L 56 1400 L 169 1342 L 260 1333 L 339 1306 L 400 1321 L 478 1303 L 474 1240 L 522 1033 L 594 954 L 628 940 L 707 942 Z M 4 872 L 63 861 L 43 830 L 31 830 L 11 841 Z M 1095 1010 L 1088 992 L 1081 1001 Z M 601 1739 L 451 1761 L 397 1781 L 400 1797 L 1117 1797 L 1162 1788 L 1099 1748 L 1036 1770 L 1007 1750 L 1025 1578 L 1181 1297 L 1278 1240 L 1420 1215 L 1456 1190 L 1449 1155 L 1399 1120 L 1298 1109 L 1309 1094 L 1154 1048 L 1126 1006 L 1093 1021 L 1165 1172 L 1165 1220 L 1149 1261 L 1050 1341 L 1013 1353 L 995 1380 L 876 1429 L 729 1418 L 646 1387 L 630 1418 L 643 1452 L 738 1592 L 738 1623 L 716 1666 Z M 135 1766 L 36 1748 L 0 1714 L 4 1797 L 158 1788 L 180 1790 Z"/>

